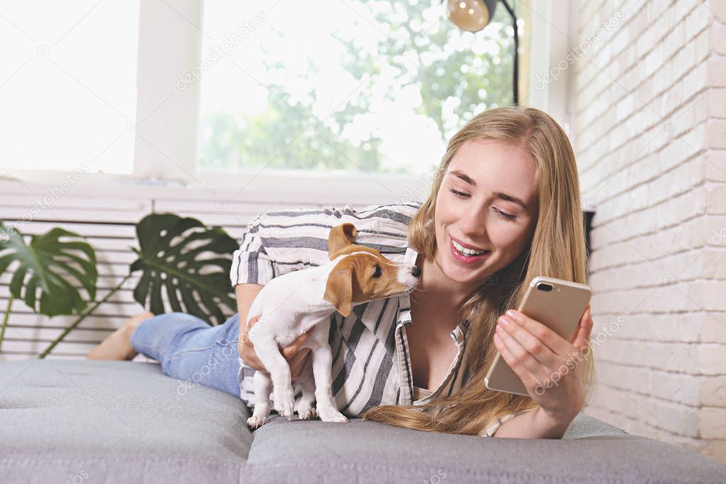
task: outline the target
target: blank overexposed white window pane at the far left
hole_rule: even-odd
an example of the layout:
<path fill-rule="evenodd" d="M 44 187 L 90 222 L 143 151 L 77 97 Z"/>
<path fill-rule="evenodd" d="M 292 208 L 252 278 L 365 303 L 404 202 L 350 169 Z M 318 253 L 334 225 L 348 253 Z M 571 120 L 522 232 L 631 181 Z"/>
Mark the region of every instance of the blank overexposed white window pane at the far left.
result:
<path fill-rule="evenodd" d="M 131 173 L 138 22 L 139 0 L 4 2 L 4 171 Z"/>

